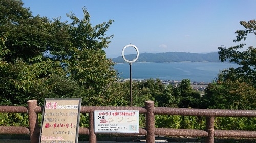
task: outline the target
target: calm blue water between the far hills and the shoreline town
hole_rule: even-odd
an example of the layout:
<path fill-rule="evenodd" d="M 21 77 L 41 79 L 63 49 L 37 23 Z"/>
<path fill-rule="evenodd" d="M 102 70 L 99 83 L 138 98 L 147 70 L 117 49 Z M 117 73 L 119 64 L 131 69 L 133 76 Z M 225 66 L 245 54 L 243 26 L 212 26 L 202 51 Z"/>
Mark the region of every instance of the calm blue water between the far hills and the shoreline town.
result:
<path fill-rule="evenodd" d="M 132 79 L 178 80 L 190 79 L 195 82 L 212 82 L 220 71 L 237 64 L 221 62 L 172 62 L 172 63 L 132 63 Z M 130 78 L 129 63 L 116 64 L 114 68 L 120 78 Z"/>

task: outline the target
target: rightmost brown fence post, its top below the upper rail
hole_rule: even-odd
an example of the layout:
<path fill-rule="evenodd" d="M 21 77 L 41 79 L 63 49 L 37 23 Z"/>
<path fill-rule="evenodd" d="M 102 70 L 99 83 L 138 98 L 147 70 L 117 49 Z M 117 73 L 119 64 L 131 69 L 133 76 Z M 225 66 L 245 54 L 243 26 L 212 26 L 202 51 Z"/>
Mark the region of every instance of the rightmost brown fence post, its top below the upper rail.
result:
<path fill-rule="evenodd" d="M 214 143 L 214 117 L 206 117 L 207 143 Z"/>

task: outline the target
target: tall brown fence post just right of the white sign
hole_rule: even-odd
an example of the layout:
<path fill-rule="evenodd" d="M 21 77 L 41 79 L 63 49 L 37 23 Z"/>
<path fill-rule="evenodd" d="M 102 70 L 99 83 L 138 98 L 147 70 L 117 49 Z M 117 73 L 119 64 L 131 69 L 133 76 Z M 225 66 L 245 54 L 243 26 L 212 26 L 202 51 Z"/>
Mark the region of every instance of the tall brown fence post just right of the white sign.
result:
<path fill-rule="evenodd" d="M 154 101 L 146 101 L 146 142 L 155 143 L 155 115 Z"/>

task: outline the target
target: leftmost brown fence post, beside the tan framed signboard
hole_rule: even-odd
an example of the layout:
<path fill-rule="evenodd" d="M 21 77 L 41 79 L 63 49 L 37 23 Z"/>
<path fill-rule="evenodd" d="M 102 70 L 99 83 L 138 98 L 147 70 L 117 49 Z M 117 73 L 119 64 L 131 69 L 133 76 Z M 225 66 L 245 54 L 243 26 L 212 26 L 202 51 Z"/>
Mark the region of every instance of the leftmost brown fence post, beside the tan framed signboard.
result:
<path fill-rule="evenodd" d="M 28 116 L 29 116 L 29 131 L 30 142 L 39 142 L 39 123 L 35 107 L 37 107 L 37 100 L 29 100 L 28 102 Z"/>

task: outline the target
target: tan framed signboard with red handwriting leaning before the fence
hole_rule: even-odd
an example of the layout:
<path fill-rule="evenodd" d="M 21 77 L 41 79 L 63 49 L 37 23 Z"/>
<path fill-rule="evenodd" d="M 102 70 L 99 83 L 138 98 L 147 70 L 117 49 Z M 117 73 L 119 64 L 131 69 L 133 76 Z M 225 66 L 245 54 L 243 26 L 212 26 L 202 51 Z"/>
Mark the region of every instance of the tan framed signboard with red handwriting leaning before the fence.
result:
<path fill-rule="evenodd" d="M 39 142 L 78 142 L 80 98 L 45 99 Z"/>

